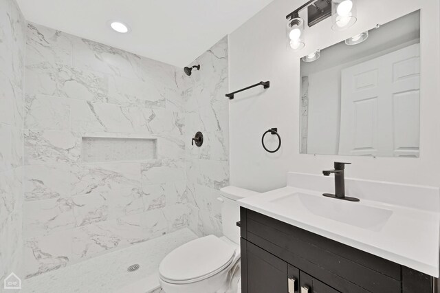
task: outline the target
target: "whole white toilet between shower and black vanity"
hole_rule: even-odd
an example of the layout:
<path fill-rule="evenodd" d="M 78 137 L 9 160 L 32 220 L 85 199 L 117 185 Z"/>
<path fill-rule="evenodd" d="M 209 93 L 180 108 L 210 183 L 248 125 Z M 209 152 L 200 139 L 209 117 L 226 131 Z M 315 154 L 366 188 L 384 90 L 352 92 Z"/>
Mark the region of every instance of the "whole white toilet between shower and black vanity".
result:
<path fill-rule="evenodd" d="M 224 236 L 201 237 L 170 252 L 159 265 L 159 281 L 166 293 L 225 293 L 236 288 L 240 275 L 240 228 L 236 226 L 240 208 L 236 200 L 256 194 L 235 186 L 221 188 Z"/>

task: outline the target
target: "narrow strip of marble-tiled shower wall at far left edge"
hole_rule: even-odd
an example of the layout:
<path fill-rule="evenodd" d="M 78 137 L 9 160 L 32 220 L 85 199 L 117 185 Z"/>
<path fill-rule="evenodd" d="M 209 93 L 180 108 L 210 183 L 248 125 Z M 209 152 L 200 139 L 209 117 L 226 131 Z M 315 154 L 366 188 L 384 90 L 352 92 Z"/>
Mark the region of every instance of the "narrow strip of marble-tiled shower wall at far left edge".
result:
<path fill-rule="evenodd" d="M 0 0 L 0 292 L 22 274 L 23 72 L 25 19 L 14 0 Z"/>

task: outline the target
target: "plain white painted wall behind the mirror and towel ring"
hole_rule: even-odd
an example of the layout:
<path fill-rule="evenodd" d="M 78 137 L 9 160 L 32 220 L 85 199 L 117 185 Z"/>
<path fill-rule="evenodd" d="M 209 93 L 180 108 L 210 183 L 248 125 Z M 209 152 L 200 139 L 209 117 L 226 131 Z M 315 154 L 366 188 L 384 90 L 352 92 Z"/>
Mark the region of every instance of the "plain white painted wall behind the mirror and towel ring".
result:
<path fill-rule="evenodd" d="M 349 177 L 440 186 L 439 135 L 439 1 L 358 1 L 358 22 L 344 32 L 331 30 L 326 19 L 306 30 L 301 52 L 286 50 L 285 15 L 303 1 L 275 0 L 230 34 L 230 89 L 260 80 L 261 87 L 237 94 L 230 102 L 231 184 L 267 191 L 284 186 L 287 171 L 320 174 L 337 160 L 352 162 Z M 300 57 L 328 47 L 421 8 L 421 132 L 420 158 L 363 158 L 299 153 Z M 261 135 L 278 127 L 283 146 L 266 153 Z"/>

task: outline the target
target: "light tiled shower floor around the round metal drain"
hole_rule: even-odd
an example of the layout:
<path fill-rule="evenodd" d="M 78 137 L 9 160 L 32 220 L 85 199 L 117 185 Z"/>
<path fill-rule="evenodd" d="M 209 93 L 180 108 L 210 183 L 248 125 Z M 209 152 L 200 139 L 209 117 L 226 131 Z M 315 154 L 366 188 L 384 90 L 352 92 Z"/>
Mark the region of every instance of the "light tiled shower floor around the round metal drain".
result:
<path fill-rule="evenodd" d="M 94 257 L 27 279 L 21 292 L 25 293 L 158 293 L 159 263 L 171 250 L 196 239 L 188 228 L 162 237 Z M 140 268 L 127 272 L 133 264 Z"/>

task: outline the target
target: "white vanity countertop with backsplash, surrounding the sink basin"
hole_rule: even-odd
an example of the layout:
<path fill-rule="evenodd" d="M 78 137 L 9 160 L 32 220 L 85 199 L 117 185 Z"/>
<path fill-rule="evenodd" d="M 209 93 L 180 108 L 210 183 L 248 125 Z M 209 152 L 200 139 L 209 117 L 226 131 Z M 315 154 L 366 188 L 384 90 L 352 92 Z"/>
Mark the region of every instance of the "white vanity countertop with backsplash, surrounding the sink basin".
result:
<path fill-rule="evenodd" d="M 300 187 L 309 187 L 307 186 L 307 181 L 309 181 L 313 184 L 311 189 L 315 190 L 287 186 L 241 199 L 239 204 L 287 224 L 364 250 L 395 263 L 406 265 L 408 268 L 431 276 L 439 276 L 440 204 L 438 188 L 405 186 L 366 180 L 347 180 L 346 195 L 361 199 L 360 202 L 347 202 L 322 197 L 323 192 L 333 193 L 333 189 L 320 190 L 320 188 L 329 188 L 333 183 L 333 178 L 329 181 L 328 179 L 321 179 L 323 176 L 318 177 L 300 173 L 289 173 L 289 176 L 291 177 L 288 180 L 289 185 L 300 182 L 300 184 L 297 184 Z M 315 180 L 318 181 L 315 182 Z M 399 194 L 387 197 L 387 194 L 393 190 L 394 185 L 396 185 L 396 191 L 399 191 Z M 382 195 L 384 197 L 383 202 L 371 200 L 370 196 L 366 195 L 368 193 L 366 190 L 371 186 L 373 186 L 371 190 L 375 191 L 373 198 L 377 198 L 377 193 L 384 193 Z M 414 191 L 413 189 L 418 190 L 416 194 L 406 193 L 406 191 Z M 347 193 L 347 191 L 351 193 Z M 292 199 L 289 204 L 276 204 L 277 199 L 283 199 L 287 195 L 296 193 L 305 193 L 307 196 L 311 196 L 311 199 L 314 199 L 312 202 L 318 201 L 322 206 L 335 206 L 338 202 L 338 204 L 346 205 L 345 208 L 347 208 L 347 204 L 362 205 L 366 206 L 367 210 L 368 207 L 391 210 L 392 214 L 383 225 L 369 229 L 316 215 L 316 213 L 312 213 L 309 208 L 305 207 L 299 199 Z M 423 193 L 426 193 L 426 196 Z M 411 196 L 413 199 L 408 198 Z M 398 204 L 399 198 L 404 205 Z M 411 204 L 411 200 L 432 202 L 428 202 L 426 205 Z"/>

